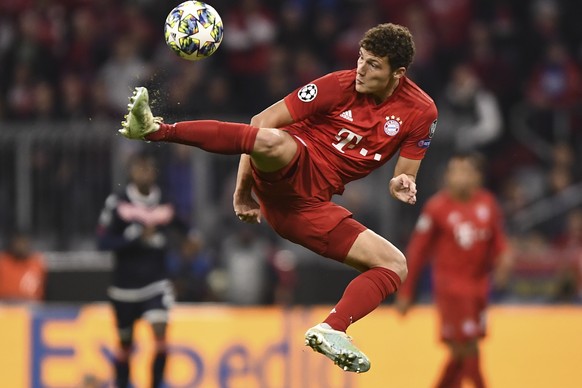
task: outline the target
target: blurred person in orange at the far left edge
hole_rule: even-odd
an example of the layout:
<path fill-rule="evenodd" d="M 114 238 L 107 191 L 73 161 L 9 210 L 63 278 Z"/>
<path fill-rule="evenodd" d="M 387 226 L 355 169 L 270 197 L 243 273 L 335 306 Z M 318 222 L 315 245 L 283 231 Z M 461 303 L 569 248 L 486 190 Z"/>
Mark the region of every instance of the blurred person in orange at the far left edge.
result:
<path fill-rule="evenodd" d="M 0 252 L 0 300 L 39 302 L 44 299 L 44 256 L 32 249 L 30 237 L 14 232 Z"/>

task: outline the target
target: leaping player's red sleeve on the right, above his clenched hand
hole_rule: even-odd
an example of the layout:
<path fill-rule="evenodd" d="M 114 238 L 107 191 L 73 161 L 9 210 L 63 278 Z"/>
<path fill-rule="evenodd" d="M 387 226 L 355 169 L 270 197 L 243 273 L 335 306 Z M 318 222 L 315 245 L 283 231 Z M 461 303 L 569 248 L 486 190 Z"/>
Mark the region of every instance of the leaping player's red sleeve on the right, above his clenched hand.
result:
<path fill-rule="evenodd" d="M 402 142 L 400 156 L 415 160 L 424 158 L 436 131 L 437 116 L 438 113 L 434 103 L 420 113 L 412 124 L 412 130 Z"/>

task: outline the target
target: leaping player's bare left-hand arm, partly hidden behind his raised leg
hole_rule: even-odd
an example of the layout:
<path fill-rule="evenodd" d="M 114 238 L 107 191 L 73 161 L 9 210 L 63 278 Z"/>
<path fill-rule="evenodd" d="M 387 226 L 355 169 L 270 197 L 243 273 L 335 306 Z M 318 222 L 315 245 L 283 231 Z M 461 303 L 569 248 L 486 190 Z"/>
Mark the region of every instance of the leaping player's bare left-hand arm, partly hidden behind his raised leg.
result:
<path fill-rule="evenodd" d="M 293 123 L 291 113 L 283 100 L 280 100 L 261 113 L 253 116 L 251 125 L 258 128 L 280 128 Z M 252 196 L 253 175 L 250 155 L 241 155 L 233 195 L 233 207 L 237 217 L 244 222 L 261 222 L 260 206 Z"/>

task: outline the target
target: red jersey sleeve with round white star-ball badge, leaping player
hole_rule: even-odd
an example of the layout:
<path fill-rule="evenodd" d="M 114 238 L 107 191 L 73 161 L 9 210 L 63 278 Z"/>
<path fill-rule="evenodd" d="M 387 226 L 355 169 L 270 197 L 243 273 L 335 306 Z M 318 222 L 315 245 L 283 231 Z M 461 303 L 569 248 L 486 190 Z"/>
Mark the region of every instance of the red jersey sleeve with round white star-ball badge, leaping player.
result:
<path fill-rule="evenodd" d="M 330 73 L 296 89 L 284 101 L 293 120 L 301 121 L 315 113 L 330 111 L 342 95 L 343 88 L 337 75 Z"/>

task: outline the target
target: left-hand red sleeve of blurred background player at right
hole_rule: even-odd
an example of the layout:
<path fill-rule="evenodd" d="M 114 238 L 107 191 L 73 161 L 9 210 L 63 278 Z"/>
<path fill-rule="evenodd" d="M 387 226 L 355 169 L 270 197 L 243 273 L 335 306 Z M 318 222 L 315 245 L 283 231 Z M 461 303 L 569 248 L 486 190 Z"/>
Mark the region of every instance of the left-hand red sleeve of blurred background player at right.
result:
<path fill-rule="evenodd" d="M 429 202 L 422 211 L 408 245 L 406 247 L 406 260 L 408 262 L 408 276 L 398 293 L 404 297 L 414 296 L 418 279 L 423 268 L 430 259 L 431 248 L 438 233 L 434 202 Z"/>

